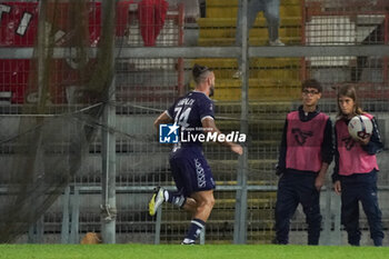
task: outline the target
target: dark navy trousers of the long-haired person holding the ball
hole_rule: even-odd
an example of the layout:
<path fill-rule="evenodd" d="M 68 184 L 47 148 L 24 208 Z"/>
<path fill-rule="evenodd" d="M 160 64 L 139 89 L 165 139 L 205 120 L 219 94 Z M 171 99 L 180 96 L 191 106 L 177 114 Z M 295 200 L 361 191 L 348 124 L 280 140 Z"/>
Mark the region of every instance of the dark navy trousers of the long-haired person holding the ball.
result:
<path fill-rule="evenodd" d="M 341 182 L 341 222 L 348 233 L 348 241 L 359 246 L 361 232 L 359 230 L 359 201 L 367 216 L 370 237 L 375 246 L 382 246 L 381 210 L 377 198 L 377 172 L 356 173 L 340 177 Z"/>

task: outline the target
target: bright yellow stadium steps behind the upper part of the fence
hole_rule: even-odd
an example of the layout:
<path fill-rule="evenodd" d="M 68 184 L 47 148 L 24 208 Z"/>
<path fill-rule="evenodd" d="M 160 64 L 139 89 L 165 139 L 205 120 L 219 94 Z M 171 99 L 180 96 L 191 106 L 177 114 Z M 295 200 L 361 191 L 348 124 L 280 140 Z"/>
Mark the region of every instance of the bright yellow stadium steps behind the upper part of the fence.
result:
<path fill-rule="evenodd" d="M 207 1 L 207 17 L 199 20 L 199 46 L 235 44 L 238 1 Z M 301 41 L 301 2 L 286 0 L 280 3 L 280 38 L 286 43 Z M 250 30 L 250 44 L 267 44 L 267 24 L 259 12 L 253 29 Z M 197 59 L 193 62 L 213 68 L 217 76 L 215 99 L 238 101 L 241 98 L 240 80 L 230 80 L 237 69 L 235 59 Z M 299 97 L 300 59 L 252 59 L 250 60 L 249 100 L 291 100 Z M 269 82 L 271 79 L 279 82 Z M 253 82 L 252 80 L 259 81 Z M 267 81 L 269 80 L 269 81 Z M 291 83 L 291 84 L 290 84 Z M 282 84 L 282 86 L 280 86 Z M 289 88 L 295 86 L 296 89 Z M 259 90 L 260 88 L 260 90 Z M 269 88 L 269 89 L 268 89 Z"/>

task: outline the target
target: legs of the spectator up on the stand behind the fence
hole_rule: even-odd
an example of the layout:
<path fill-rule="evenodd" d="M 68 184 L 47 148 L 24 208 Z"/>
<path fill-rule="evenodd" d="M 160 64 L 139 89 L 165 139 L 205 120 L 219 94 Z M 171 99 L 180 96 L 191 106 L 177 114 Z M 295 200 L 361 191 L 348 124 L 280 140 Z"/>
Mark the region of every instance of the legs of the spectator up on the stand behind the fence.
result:
<path fill-rule="evenodd" d="M 240 0 L 241 2 L 241 0 Z M 248 29 L 251 29 L 256 22 L 258 12 L 263 11 L 265 18 L 268 22 L 269 32 L 269 44 L 270 46 L 285 46 L 279 39 L 278 30 L 280 26 L 280 0 L 248 0 L 248 13 L 247 13 L 247 24 Z M 241 44 L 241 27 L 242 27 L 242 12 L 241 6 L 238 9 L 237 18 L 237 33 L 236 33 L 236 44 Z M 238 59 L 238 71 L 235 72 L 233 78 L 240 78 L 241 76 L 241 60 Z"/>

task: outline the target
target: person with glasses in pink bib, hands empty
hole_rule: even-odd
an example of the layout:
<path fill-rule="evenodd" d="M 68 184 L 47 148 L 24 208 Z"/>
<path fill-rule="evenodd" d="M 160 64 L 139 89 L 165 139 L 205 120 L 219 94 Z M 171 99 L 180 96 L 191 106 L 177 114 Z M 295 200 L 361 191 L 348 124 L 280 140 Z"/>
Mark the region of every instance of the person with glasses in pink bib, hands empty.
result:
<path fill-rule="evenodd" d="M 319 193 L 332 161 L 332 126 L 318 109 L 322 87 L 307 80 L 301 87 L 302 106 L 288 113 L 280 145 L 277 175 L 276 242 L 289 242 L 289 225 L 301 203 L 308 223 L 308 245 L 318 245 L 321 227 Z"/>

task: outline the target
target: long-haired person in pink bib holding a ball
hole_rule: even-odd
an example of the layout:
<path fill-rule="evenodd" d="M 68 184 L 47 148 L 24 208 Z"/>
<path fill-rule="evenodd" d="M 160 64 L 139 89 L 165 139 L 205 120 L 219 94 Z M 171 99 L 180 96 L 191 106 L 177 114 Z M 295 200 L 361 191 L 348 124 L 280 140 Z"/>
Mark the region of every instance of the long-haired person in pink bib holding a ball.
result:
<path fill-rule="evenodd" d="M 341 195 L 341 222 L 348 233 L 351 246 L 359 246 L 359 205 L 368 218 L 370 237 L 375 246 L 382 246 L 383 232 L 381 210 L 377 198 L 376 153 L 383 149 L 376 119 L 358 104 L 357 92 L 352 84 L 338 91 L 338 119 L 335 124 L 336 152 L 332 175 L 333 189 Z M 371 136 L 353 139 L 348 131 L 348 122 L 357 114 L 368 117 L 373 126 Z"/>

